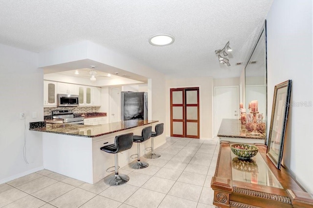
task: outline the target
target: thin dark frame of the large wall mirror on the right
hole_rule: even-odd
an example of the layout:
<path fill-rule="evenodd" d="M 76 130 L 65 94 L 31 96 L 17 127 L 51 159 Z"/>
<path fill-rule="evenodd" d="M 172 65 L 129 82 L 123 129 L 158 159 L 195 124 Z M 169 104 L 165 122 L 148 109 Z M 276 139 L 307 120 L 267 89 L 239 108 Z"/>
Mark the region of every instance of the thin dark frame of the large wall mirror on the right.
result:
<path fill-rule="evenodd" d="M 249 62 L 251 61 L 251 57 L 257 47 L 257 45 L 260 43 L 260 39 L 262 37 L 264 33 L 264 44 L 265 45 L 265 53 L 264 53 L 264 56 L 265 56 L 265 87 L 266 87 L 266 109 L 265 109 L 265 116 L 264 116 L 264 119 L 265 119 L 265 125 L 266 125 L 266 130 L 265 130 L 265 145 L 268 145 L 268 130 L 267 130 L 267 127 L 268 127 L 268 49 L 267 49 L 267 28 L 266 28 L 266 19 L 264 20 L 264 23 L 263 23 L 263 27 L 259 33 L 259 36 L 253 46 L 253 49 L 252 49 L 252 52 L 250 54 L 250 56 L 248 57 L 248 60 L 246 62 L 246 66 L 245 66 L 245 92 L 246 92 L 246 70 L 247 70 L 247 66 L 249 64 Z M 246 96 L 245 96 L 245 103 L 246 103 Z"/>

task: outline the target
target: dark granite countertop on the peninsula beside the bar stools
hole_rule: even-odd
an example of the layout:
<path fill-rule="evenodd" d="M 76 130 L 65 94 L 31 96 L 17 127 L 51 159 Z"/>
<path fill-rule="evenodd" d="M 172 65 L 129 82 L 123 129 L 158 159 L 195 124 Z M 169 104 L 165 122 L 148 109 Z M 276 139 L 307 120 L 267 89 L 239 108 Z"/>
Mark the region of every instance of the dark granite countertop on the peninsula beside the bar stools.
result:
<path fill-rule="evenodd" d="M 81 136 L 81 137 L 97 137 L 97 136 L 102 136 L 105 134 L 120 132 L 123 130 L 156 123 L 156 122 L 158 121 L 128 120 L 128 121 L 120 121 L 120 122 L 90 126 L 90 125 L 66 124 L 66 123 L 49 124 L 43 121 L 43 122 L 30 123 L 29 130 L 37 131 L 37 132 L 49 132 L 49 133 L 66 134 L 66 135 L 72 135 L 72 136 Z"/>

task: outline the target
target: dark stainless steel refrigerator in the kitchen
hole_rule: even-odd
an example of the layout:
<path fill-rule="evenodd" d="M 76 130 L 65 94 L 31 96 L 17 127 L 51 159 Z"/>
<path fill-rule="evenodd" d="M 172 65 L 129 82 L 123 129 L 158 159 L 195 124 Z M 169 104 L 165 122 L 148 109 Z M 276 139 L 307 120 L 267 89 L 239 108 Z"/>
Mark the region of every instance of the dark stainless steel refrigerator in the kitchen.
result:
<path fill-rule="evenodd" d="M 121 92 L 121 120 L 148 120 L 148 93 Z"/>

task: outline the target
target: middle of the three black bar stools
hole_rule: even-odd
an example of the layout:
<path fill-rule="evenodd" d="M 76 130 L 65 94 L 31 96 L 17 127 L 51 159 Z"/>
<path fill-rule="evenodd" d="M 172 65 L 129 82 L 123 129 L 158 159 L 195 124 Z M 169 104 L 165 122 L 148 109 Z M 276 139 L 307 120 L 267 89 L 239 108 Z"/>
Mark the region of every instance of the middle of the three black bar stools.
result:
<path fill-rule="evenodd" d="M 132 169 L 143 169 L 143 168 L 147 168 L 149 166 L 148 163 L 140 161 L 140 143 L 149 139 L 151 137 L 151 132 L 152 132 L 152 127 L 148 126 L 142 130 L 141 136 L 139 136 L 139 135 L 133 136 L 133 141 L 137 143 L 137 154 L 131 155 L 131 158 L 133 158 L 132 156 L 137 155 L 137 161 L 130 163 L 129 164 L 130 168 L 132 168 Z"/>

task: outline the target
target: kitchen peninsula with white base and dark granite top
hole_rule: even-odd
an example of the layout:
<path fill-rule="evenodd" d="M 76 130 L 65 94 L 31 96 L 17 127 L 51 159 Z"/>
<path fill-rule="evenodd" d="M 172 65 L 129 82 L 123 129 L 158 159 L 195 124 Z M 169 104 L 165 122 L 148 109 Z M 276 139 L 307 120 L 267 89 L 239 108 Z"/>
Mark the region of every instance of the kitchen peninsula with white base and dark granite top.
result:
<path fill-rule="evenodd" d="M 44 168 L 77 180 L 94 184 L 110 173 L 114 166 L 114 155 L 100 150 L 114 143 L 116 135 L 133 132 L 141 135 L 143 126 L 151 126 L 158 121 L 127 120 L 96 126 L 79 124 L 30 123 L 29 130 L 43 132 Z M 143 144 L 150 146 L 150 141 Z M 129 164 L 132 154 L 137 152 L 133 146 L 119 156 L 121 167 Z"/>

